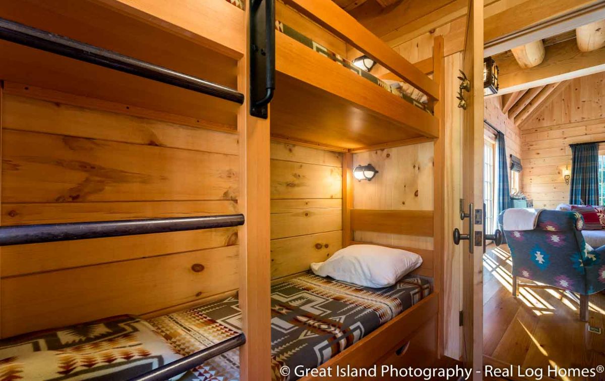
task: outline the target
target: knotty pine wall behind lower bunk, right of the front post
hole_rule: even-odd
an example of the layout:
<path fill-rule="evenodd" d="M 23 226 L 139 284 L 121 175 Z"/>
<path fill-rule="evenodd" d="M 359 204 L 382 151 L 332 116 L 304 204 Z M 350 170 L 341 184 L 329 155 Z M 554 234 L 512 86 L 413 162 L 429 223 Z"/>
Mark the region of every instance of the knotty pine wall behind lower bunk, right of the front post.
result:
<path fill-rule="evenodd" d="M 271 274 L 309 270 L 342 247 L 342 154 L 271 144 Z"/>

